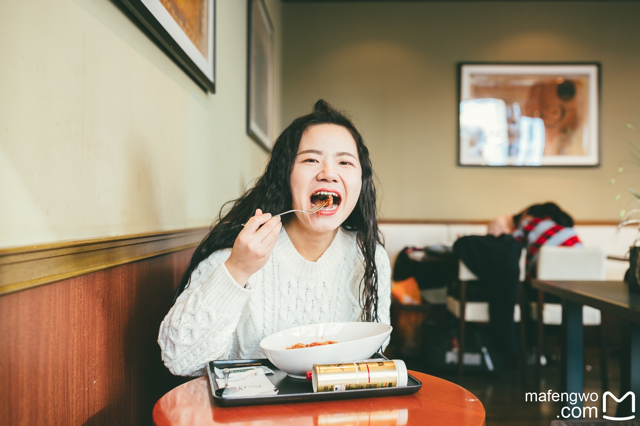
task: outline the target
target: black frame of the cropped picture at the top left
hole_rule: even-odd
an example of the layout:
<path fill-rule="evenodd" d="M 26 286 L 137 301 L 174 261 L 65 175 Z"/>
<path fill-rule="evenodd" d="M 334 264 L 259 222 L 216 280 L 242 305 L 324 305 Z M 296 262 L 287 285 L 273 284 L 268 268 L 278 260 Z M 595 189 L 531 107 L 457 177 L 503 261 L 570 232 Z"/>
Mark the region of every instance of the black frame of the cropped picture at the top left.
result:
<path fill-rule="evenodd" d="M 211 1 L 212 31 L 207 34 L 207 42 L 211 43 L 207 64 L 198 65 L 189 53 L 170 34 L 168 29 L 154 16 L 142 0 L 113 0 L 130 19 L 132 19 L 147 36 L 160 47 L 182 70 L 193 79 L 204 91 L 216 93 L 216 0 Z M 199 61 L 202 62 L 202 61 Z M 211 66 L 211 69 L 209 69 Z M 206 72 L 206 73 L 205 73 Z M 209 75 L 207 75 L 207 73 Z"/>

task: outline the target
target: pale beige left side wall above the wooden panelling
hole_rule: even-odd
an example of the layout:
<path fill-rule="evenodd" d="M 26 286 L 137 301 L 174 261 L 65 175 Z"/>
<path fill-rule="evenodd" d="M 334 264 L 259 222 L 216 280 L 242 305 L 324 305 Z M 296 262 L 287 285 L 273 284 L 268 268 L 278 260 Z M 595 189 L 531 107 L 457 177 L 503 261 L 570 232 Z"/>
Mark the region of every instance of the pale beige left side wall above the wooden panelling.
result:
<path fill-rule="evenodd" d="M 0 2 L 0 247 L 211 224 L 266 158 L 245 131 L 246 6 L 216 1 L 211 95 L 111 1 Z"/>

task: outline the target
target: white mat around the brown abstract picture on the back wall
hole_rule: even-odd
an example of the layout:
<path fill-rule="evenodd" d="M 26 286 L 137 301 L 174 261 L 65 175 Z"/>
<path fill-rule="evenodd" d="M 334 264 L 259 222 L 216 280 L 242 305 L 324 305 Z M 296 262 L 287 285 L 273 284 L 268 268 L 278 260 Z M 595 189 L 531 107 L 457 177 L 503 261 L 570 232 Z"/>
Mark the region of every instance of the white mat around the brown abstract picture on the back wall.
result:
<path fill-rule="evenodd" d="M 484 75 L 583 75 L 588 77 L 588 111 L 585 129 L 588 155 L 545 155 L 541 165 L 598 165 L 600 162 L 600 121 L 598 109 L 597 65 L 462 65 L 460 70 L 460 102 L 471 99 L 471 76 Z M 458 129 L 460 132 L 460 129 Z M 460 144 L 461 165 L 487 165 L 483 158 L 472 155 L 468 147 Z"/>

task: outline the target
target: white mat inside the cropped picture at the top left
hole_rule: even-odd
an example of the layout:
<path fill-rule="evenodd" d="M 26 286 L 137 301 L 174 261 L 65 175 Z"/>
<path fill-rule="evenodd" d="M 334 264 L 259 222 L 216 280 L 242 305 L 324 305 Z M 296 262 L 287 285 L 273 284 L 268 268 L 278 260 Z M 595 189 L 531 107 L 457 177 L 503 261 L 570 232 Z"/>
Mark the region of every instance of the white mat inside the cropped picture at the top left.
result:
<path fill-rule="evenodd" d="M 187 34 L 182 31 L 179 24 L 175 22 L 175 19 L 171 16 L 171 14 L 164 8 L 163 4 L 160 3 L 159 0 L 140 0 L 147 9 L 154 15 L 154 18 L 163 26 L 163 28 L 172 36 L 173 40 L 180 46 L 180 49 L 184 50 L 184 52 L 189 56 L 189 58 L 195 63 L 200 71 L 207 76 L 207 79 L 214 82 L 214 74 L 213 74 L 213 66 L 214 66 L 214 0 L 207 0 L 207 13 L 209 15 L 209 19 L 207 20 L 207 57 L 205 57 L 202 52 L 196 47 L 193 42 L 189 39 Z"/>

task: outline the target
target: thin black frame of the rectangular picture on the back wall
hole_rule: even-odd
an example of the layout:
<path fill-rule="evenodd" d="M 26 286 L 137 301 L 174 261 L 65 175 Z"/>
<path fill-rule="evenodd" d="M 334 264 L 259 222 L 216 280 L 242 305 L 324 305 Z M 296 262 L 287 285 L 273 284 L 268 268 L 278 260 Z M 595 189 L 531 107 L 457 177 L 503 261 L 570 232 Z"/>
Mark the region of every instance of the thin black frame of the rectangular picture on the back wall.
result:
<path fill-rule="evenodd" d="M 589 92 L 588 108 L 586 115 L 589 117 L 589 125 L 591 126 L 591 156 L 580 164 L 575 159 L 563 162 L 562 155 L 556 155 L 557 160 L 549 164 L 548 162 L 542 164 L 469 164 L 465 161 L 463 154 L 463 144 L 461 138 L 461 102 L 465 100 L 465 87 L 463 85 L 466 66 L 487 66 L 487 67 L 568 67 L 566 70 L 575 70 L 576 67 L 584 67 L 584 69 L 591 68 L 589 74 L 589 88 L 585 89 Z M 602 164 L 602 65 L 599 62 L 459 62 L 456 64 L 457 68 L 457 103 L 456 103 L 456 161 L 459 167 L 600 167 Z M 517 74 L 516 74 L 517 75 Z M 594 87 L 595 86 L 595 87 Z M 566 156 L 569 158 L 570 156 Z M 586 156 L 585 156 L 586 157 Z"/>

